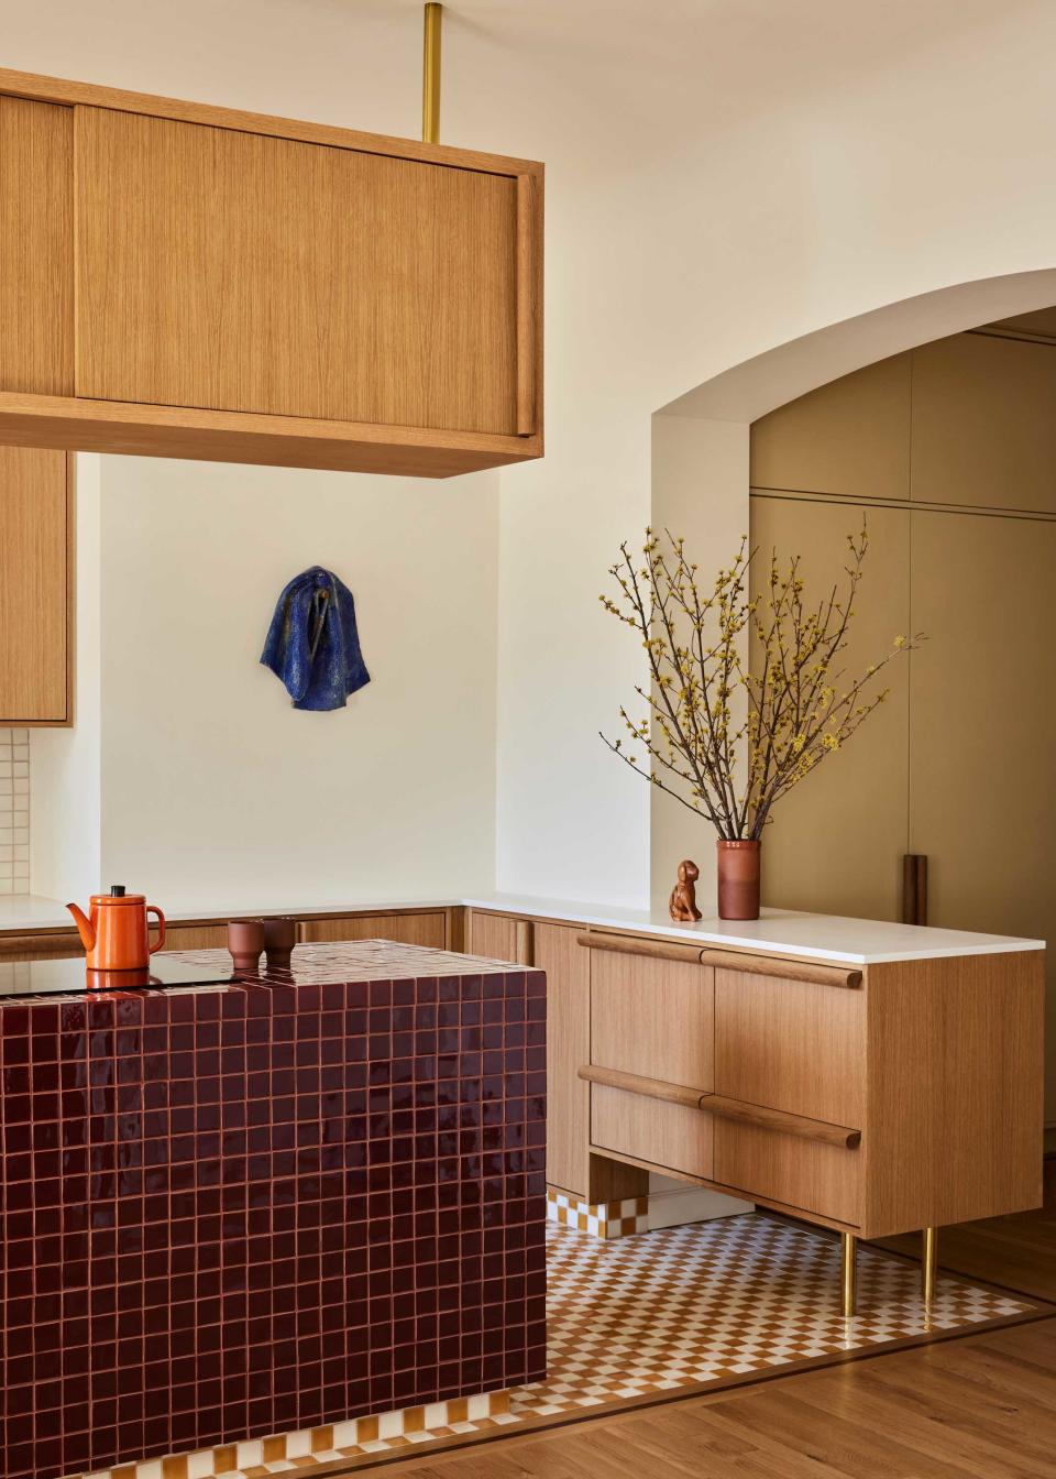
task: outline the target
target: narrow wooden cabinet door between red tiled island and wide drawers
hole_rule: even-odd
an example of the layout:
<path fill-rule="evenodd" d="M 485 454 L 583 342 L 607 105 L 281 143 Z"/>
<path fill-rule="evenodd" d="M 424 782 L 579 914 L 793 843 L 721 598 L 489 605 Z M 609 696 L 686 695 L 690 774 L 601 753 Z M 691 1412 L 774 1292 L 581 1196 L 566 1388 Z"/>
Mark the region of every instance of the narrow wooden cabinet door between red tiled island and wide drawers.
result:
<path fill-rule="evenodd" d="M 580 927 L 532 924 L 532 966 L 546 972 L 546 1179 L 590 1199 L 590 951 Z"/>

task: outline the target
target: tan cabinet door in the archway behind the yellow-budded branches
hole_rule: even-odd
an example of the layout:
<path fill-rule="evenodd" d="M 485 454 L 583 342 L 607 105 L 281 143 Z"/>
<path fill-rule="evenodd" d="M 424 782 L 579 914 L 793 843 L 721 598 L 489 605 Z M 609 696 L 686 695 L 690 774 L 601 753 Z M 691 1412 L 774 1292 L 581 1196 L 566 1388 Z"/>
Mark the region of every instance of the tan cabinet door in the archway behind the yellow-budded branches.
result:
<path fill-rule="evenodd" d="M 802 555 L 815 599 L 843 577 L 847 534 L 858 534 L 862 509 L 845 503 L 753 497 L 753 598 L 769 578 L 771 550 L 787 562 Z M 890 651 L 910 630 L 910 513 L 868 510 L 870 550 L 856 602 L 847 671 Z M 915 621 L 914 614 L 914 624 Z M 759 654 L 753 651 L 753 663 Z M 852 737 L 774 808 L 763 842 L 763 902 L 772 908 L 855 918 L 896 920 L 908 812 L 910 664 L 884 670 L 890 694 Z"/>

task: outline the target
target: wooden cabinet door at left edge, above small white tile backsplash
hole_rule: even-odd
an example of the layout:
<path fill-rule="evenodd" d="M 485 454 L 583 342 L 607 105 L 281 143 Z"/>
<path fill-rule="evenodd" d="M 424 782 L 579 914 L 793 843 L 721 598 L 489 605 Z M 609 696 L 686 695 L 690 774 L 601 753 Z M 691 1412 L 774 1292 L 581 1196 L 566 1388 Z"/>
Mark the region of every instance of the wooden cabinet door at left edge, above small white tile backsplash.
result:
<path fill-rule="evenodd" d="M 70 720 L 65 453 L 0 447 L 0 723 Z"/>

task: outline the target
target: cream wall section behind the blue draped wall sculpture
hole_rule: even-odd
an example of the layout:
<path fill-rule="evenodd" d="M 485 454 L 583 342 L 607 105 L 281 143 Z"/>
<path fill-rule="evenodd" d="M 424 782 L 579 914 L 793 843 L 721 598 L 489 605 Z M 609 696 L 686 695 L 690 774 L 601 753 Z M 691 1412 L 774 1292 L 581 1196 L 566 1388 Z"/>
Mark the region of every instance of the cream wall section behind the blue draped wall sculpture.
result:
<path fill-rule="evenodd" d="M 494 475 L 102 461 L 104 881 L 173 908 L 490 887 Z M 334 713 L 259 663 L 315 563 L 351 587 L 371 673 Z"/>

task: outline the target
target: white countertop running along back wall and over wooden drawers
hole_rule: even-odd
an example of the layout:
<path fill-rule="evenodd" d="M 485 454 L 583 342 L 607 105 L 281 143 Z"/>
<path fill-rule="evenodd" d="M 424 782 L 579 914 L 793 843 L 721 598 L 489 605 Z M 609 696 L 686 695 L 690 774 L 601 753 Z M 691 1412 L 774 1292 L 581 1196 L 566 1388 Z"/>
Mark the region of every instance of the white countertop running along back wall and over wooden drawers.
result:
<path fill-rule="evenodd" d="M 636 935 L 686 939 L 701 945 L 741 945 L 778 954 L 813 955 L 849 966 L 874 966 L 892 960 L 933 960 L 944 955 L 991 955 L 1022 950 L 1044 950 L 1041 939 L 1010 935 L 973 935 L 966 930 L 893 924 L 886 920 L 855 920 L 837 914 L 799 914 L 763 910 L 748 921 L 703 918 L 698 924 L 674 924 L 666 913 L 629 910 L 574 899 L 541 899 L 521 893 L 476 893 L 441 899 L 355 899 L 342 904 L 288 904 L 280 901 L 237 910 L 166 910 L 173 924 L 180 920 L 226 920 L 253 914 L 343 914 L 359 910 L 422 910 L 467 905 L 571 924 L 599 924 Z M 161 905 L 164 908 L 164 904 Z M 33 893 L 0 895 L 0 930 L 70 929 L 72 920 L 58 899 Z"/>

